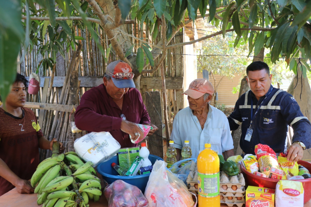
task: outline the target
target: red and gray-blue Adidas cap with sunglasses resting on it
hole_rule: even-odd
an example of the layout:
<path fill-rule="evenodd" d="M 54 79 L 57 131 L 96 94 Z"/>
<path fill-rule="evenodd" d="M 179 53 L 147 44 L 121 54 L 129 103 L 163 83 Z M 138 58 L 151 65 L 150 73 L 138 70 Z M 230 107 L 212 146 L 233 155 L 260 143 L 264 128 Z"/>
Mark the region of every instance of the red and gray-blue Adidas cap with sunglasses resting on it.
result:
<path fill-rule="evenodd" d="M 130 73 L 132 72 L 132 68 L 128 65 L 128 63 L 117 60 L 114 62 L 110 62 L 107 66 L 107 75 L 111 77 L 112 81 L 114 82 L 114 85 L 117 86 L 117 88 L 135 88 L 135 84 L 133 79 L 128 79 L 127 77 L 124 77 L 122 80 L 116 80 L 112 74 L 117 73 Z"/>

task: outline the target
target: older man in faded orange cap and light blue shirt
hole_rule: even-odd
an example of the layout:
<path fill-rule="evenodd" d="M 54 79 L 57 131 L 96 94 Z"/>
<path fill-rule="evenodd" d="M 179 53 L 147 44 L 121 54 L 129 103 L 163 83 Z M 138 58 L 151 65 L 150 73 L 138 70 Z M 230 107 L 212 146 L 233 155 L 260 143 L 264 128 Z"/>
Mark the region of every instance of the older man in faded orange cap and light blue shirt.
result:
<path fill-rule="evenodd" d="M 192 158 L 197 158 L 204 150 L 204 144 L 210 143 L 217 154 L 224 154 L 227 159 L 234 155 L 233 140 L 226 115 L 212 107 L 214 88 L 205 78 L 191 82 L 188 95 L 189 107 L 180 110 L 173 122 L 171 140 L 177 150 L 177 160 L 181 159 L 181 149 L 188 140 L 192 150 Z"/>

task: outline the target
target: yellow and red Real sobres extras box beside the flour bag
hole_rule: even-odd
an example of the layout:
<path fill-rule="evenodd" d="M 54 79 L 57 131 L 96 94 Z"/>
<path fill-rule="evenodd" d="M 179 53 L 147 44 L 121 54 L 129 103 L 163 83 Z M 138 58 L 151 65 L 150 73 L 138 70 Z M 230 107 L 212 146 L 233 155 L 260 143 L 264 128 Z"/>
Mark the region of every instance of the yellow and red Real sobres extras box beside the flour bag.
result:
<path fill-rule="evenodd" d="M 246 207 L 274 207 L 275 190 L 270 188 L 248 186 L 245 193 Z"/>

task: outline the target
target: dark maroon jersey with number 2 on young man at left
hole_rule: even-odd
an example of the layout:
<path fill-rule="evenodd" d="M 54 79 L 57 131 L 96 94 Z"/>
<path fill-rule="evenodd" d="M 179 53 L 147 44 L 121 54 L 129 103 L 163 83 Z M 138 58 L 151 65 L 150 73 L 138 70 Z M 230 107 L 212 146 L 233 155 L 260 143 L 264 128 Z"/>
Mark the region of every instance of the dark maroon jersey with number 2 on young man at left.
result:
<path fill-rule="evenodd" d="M 0 108 L 0 158 L 18 177 L 29 180 L 39 164 L 38 139 L 43 134 L 31 109 L 22 110 L 19 118 Z M 0 196 L 14 187 L 0 176 Z"/>

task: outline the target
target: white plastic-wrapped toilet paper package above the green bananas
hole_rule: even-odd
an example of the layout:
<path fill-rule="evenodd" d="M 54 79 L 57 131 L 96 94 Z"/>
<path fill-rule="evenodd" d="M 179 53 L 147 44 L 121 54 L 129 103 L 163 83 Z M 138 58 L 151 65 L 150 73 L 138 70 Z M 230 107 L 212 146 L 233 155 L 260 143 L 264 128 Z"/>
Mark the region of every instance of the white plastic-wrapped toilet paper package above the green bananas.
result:
<path fill-rule="evenodd" d="M 121 145 L 109 132 L 91 132 L 77 139 L 74 143 L 76 153 L 86 162 L 99 163 L 111 159 L 121 148 Z"/>

